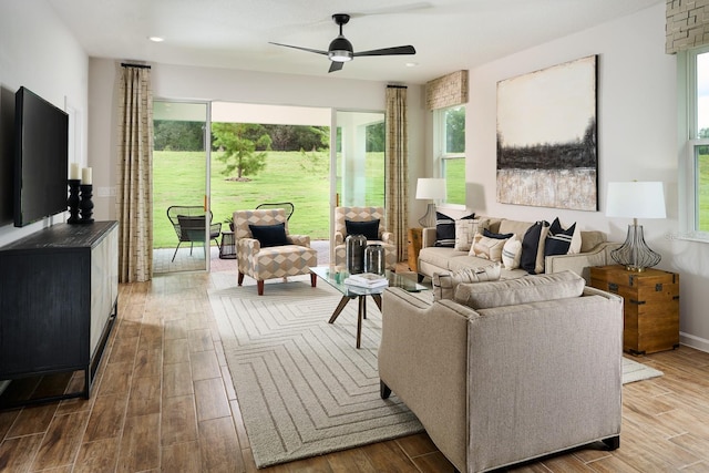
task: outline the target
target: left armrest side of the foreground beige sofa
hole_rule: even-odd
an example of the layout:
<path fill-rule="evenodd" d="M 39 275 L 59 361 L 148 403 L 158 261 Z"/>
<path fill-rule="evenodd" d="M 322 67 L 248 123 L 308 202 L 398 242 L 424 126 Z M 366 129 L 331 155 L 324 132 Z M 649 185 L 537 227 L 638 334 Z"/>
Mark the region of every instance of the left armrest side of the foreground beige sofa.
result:
<path fill-rule="evenodd" d="M 470 317 L 475 311 L 452 300 L 422 301 L 393 287 L 382 296 L 379 377 L 460 471 L 465 471 Z"/>

